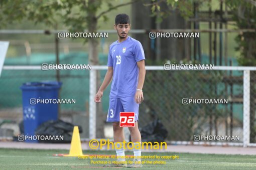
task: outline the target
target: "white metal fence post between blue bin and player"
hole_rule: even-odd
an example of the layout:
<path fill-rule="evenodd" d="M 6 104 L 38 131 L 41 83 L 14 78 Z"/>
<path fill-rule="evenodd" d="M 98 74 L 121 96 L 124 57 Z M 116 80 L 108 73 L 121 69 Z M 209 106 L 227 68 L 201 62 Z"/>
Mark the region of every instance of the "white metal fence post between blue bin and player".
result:
<path fill-rule="evenodd" d="M 96 137 L 96 103 L 94 95 L 96 94 L 96 69 L 90 70 L 90 88 L 89 88 L 89 138 Z"/>

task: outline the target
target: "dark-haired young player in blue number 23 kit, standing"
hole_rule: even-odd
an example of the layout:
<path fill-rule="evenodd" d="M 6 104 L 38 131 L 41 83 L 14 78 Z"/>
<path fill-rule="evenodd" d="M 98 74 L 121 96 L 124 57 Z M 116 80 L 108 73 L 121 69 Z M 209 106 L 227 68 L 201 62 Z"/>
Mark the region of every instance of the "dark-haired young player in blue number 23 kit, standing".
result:
<path fill-rule="evenodd" d="M 100 102 L 104 89 L 110 83 L 109 109 L 107 121 L 112 121 L 114 142 L 118 161 L 125 161 L 123 146 L 123 127 L 119 125 L 119 113 L 135 112 L 135 127 L 129 127 L 132 142 L 134 142 L 134 162 L 129 167 L 141 167 L 141 133 L 138 128 L 139 104 L 143 101 L 142 87 L 145 79 L 145 56 L 142 44 L 128 36 L 131 28 L 130 18 L 127 14 L 118 14 L 115 17 L 114 29 L 117 31 L 118 40 L 109 47 L 108 69 L 105 78 L 95 95 L 94 101 Z M 138 146 L 138 145 L 137 145 Z M 120 148 L 120 149 L 118 149 Z M 126 166 L 126 163 L 118 163 L 116 166 Z"/>

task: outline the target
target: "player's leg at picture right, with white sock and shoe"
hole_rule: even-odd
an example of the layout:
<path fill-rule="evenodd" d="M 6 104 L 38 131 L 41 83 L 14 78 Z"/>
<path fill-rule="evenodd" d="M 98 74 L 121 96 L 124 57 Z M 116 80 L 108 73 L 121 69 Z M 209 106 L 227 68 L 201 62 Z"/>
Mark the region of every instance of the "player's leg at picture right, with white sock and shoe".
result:
<path fill-rule="evenodd" d="M 141 132 L 138 127 L 138 121 L 135 122 L 134 127 L 129 127 L 129 130 L 130 130 L 132 142 L 134 142 L 134 162 L 127 167 L 141 167 L 142 166 L 142 163 L 141 163 L 142 137 L 141 137 Z"/>

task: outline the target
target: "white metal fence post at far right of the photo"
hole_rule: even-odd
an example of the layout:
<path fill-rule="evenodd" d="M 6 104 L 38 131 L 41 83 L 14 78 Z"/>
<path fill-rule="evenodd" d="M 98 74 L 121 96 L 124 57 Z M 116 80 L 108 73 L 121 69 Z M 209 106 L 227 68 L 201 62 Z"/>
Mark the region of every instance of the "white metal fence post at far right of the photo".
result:
<path fill-rule="evenodd" d="M 243 147 L 250 142 L 250 70 L 243 71 Z"/>

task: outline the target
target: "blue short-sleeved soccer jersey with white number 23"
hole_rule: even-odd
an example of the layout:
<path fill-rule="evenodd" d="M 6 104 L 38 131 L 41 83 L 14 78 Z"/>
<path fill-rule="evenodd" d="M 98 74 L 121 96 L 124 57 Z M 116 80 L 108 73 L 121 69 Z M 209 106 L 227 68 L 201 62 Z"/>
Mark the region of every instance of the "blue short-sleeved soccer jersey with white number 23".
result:
<path fill-rule="evenodd" d="M 139 78 L 137 62 L 143 59 L 145 55 L 141 42 L 130 36 L 110 45 L 107 61 L 107 65 L 113 67 L 110 98 L 135 95 Z"/>

